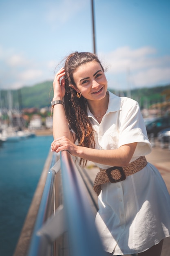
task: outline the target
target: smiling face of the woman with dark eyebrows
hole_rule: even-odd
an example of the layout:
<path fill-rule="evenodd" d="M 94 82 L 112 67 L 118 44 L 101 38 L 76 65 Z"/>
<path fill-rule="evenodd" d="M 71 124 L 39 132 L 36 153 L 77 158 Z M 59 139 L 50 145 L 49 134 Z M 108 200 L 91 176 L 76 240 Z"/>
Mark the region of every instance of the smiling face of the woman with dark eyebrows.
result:
<path fill-rule="evenodd" d="M 103 99 L 107 92 L 107 80 L 100 63 L 91 61 L 81 65 L 73 73 L 77 92 L 87 100 Z"/>

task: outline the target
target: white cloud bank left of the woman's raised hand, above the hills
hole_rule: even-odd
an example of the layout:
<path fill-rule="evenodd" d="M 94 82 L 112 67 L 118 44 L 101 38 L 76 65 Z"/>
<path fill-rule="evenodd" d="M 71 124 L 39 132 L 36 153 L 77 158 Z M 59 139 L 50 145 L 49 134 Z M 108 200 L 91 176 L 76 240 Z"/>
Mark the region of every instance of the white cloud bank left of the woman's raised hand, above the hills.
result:
<path fill-rule="evenodd" d="M 0 47 L 0 89 L 17 89 L 51 80 L 54 76 L 52 65 L 53 61 L 40 62 L 14 49 Z"/>

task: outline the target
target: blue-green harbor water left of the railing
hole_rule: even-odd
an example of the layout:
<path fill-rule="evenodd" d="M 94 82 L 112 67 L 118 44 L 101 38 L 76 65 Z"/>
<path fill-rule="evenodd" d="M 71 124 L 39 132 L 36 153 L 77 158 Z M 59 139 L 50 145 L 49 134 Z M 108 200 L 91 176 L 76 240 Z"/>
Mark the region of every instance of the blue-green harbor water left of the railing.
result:
<path fill-rule="evenodd" d="M 52 136 L 0 146 L 0 256 L 12 256 L 49 154 Z"/>

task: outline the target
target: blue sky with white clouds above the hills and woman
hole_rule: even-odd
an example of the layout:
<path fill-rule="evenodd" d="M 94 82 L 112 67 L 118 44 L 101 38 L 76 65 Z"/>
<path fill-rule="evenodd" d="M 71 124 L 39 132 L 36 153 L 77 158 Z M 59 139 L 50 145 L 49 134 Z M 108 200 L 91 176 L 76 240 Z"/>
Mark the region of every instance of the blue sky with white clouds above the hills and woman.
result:
<path fill-rule="evenodd" d="M 170 1 L 94 0 L 108 88 L 170 84 Z M 93 52 L 91 0 L 0 0 L 0 89 L 53 80 L 74 51 Z"/>

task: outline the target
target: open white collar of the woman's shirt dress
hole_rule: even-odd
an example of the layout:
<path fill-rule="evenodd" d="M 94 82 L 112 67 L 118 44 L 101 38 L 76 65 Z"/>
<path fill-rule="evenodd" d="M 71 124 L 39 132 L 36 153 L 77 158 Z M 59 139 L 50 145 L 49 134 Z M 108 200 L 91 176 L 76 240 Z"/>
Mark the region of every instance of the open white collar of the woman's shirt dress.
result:
<path fill-rule="evenodd" d="M 109 93 L 109 102 L 108 102 L 108 109 L 106 111 L 106 114 L 109 112 L 116 112 L 118 110 L 121 110 L 120 97 L 116 96 L 112 92 L 108 91 L 108 93 Z M 93 117 L 93 114 L 89 110 L 88 105 L 87 105 L 87 116 Z"/>

